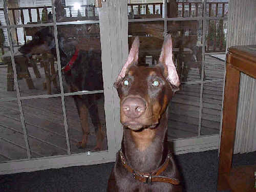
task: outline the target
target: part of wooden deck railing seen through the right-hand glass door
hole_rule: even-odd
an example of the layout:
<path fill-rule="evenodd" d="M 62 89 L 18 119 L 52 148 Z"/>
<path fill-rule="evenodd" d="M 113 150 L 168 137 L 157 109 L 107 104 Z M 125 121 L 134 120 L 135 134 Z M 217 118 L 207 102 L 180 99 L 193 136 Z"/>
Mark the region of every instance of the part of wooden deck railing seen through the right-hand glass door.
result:
<path fill-rule="evenodd" d="M 163 3 L 127 4 L 129 19 L 137 18 L 163 18 Z M 208 17 L 225 17 L 228 3 L 207 3 L 206 15 Z M 167 17 L 202 17 L 202 2 L 167 3 Z M 160 9 L 160 12 L 156 11 Z M 130 24 L 131 25 L 131 24 Z M 196 27 L 196 26 L 195 26 Z M 223 20 L 210 20 L 206 36 L 206 52 L 225 51 L 225 37 Z"/>

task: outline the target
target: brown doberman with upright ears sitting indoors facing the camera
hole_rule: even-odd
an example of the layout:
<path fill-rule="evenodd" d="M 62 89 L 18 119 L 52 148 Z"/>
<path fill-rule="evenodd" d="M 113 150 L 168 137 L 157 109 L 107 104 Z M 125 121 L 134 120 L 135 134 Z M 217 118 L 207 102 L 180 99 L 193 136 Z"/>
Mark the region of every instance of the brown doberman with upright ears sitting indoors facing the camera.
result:
<path fill-rule="evenodd" d="M 138 63 L 139 37 L 114 84 L 120 97 L 123 139 L 108 191 L 182 191 L 167 142 L 167 105 L 180 81 L 172 59 L 172 38 L 158 64 Z"/>

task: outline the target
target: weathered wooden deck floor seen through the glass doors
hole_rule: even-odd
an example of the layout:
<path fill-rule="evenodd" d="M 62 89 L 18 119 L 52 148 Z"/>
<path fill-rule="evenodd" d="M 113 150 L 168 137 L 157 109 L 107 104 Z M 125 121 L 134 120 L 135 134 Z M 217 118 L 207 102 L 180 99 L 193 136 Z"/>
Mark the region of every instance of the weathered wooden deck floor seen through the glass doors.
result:
<path fill-rule="evenodd" d="M 224 77 L 225 62 L 206 56 L 205 78 L 222 79 Z M 24 79 L 19 80 L 20 94 L 22 96 L 46 94 L 42 88 L 44 72 L 39 68 L 41 78 L 31 75 L 35 90 L 29 90 Z M 16 92 L 6 91 L 7 68 L 0 66 L 0 99 L 16 97 Z M 198 69 L 188 71 L 188 79 L 200 79 Z M 168 138 L 188 138 L 198 136 L 199 109 L 200 109 L 200 84 L 183 85 L 177 92 L 169 107 Z M 221 119 L 222 88 L 223 82 L 205 83 L 203 89 L 203 110 L 201 135 L 218 134 Z M 53 90 L 58 93 L 58 90 Z M 93 150 L 95 146 L 94 127 L 89 118 L 91 134 L 86 149 L 79 149 L 76 143 L 81 139 L 80 120 L 75 103 L 71 96 L 65 98 L 68 117 L 68 134 L 70 138 L 71 153 L 81 153 Z M 106 133 L 103 99 L 98 101 L 101 124 Z M 66 134 L 62 116 L 60 97 L 36 98 L 22 100 L 25 124 L 32 158 L 47 157 L 67 154 Z M 0 162 L 26 159 L 26 143 L 24 130 L 20 123 L 20 113 L 17 101 L 0 102 Z M 106 134 L 104 148 L 107 150 Z"/>

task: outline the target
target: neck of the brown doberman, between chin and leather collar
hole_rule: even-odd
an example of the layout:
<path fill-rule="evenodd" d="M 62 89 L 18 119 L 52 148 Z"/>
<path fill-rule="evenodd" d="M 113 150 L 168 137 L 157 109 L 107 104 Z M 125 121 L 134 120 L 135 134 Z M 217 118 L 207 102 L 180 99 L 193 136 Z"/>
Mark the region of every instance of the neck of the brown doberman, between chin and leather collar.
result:
<path fill-rule="evenodd" d="M 134 132 L 124 127 L 122 150 L 134 170 L 151 172 L 165 161 L 168 154 L 166 111 L 154 129 Z"/>

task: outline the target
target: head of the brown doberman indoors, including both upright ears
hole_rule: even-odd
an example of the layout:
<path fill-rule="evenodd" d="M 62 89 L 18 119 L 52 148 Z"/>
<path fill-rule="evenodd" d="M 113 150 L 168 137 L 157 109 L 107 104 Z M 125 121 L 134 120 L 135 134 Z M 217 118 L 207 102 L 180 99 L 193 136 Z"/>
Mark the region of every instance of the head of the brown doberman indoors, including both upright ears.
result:
<path fill-rule="evenodd" d="M 180 86 L 170 36 L 163 43 L 155 67 L 139 66 L 138 53 L 139 37 L 136 37 L 114 84 L 120 97 L 121 123 L 134 131 L 156 127 L 170 98 Z"/>

